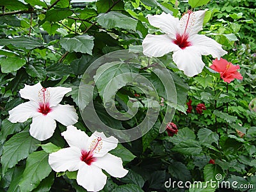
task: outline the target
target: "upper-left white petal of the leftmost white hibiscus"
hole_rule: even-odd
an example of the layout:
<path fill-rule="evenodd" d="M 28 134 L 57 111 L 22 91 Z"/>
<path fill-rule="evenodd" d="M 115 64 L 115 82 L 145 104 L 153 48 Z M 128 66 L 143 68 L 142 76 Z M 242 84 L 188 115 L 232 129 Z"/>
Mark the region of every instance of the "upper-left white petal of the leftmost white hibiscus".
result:
<path fill-rule="evenodd" d="M 20 97 L 29 99 L 38 103 L 38 92 L 42 89 L 42 85 L 37 83 L 35 85 L 25 84 L 25 87 L 19 91 Z"/>

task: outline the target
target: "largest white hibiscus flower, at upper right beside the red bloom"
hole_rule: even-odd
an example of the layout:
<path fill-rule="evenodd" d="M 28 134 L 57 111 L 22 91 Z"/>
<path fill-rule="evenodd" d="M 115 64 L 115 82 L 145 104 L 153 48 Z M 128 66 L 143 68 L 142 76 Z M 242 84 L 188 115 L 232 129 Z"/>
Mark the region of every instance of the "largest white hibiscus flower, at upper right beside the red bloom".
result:
<path fill-rule="evenodd" d="M 150 24 L 166 34 L 147 35 L 142 42 L 143 53 L 149 57 L 161 57 L 173 52 L 173 61 L 186 76 L 199 74 L 205 65 L 202 55 L 211 54 L 220 60 L 221 56 L 227 54 L 215 40 L 197 34 L 202 30 L 204 15 L 205 10 L 189 10 L 180 20 L 170 13 L 148 15 Z"/>

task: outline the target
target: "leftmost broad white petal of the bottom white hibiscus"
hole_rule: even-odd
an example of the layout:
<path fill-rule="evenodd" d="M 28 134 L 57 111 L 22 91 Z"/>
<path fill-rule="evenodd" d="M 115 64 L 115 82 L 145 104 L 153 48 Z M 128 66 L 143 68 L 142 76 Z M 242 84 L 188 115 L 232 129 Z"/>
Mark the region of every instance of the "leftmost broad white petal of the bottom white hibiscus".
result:
<path fill-rule="evenodd" d="M 55 172 L 74 172 L 78 170 L 81 151 L 77 147 L 62 148 L 49 154 L 49 164 Z"/>

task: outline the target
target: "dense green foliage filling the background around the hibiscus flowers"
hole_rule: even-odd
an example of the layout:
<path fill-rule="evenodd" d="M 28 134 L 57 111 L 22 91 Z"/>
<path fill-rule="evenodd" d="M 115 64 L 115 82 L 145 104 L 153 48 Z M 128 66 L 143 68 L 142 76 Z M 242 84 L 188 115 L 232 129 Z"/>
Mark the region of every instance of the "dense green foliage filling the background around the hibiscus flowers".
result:
<path fill-rule="evenodd" d="M 256 188 L 256 110 L 248 107 L 255 98 L 256 87 L 254 0 L 99 0 L 79 6 L 68 0 L 8 0 L 0 1 L 0 6 L 3 9 L 0 13 L 0 188 L 3 191 L 86 191 L 77 184 L 76 172 L 56 174 L 47 162 L 49 153 L 67 147 L 60 134 L 66 130 L 65 126 L 58 123 L 52 138 L 41 142 L 29 135 L 31 120 L 17 124 L 8 121 L 8 111 L 26 102 L 19 97 L 24 84 L 40 81 L 44 87 L 71 87 L 72 92 L 61 103 L 75 106 L 79 114 L 79 83 L 93 61 L 112 51 L 141 50 L 148 33 L 161 34 L 150 26 L 147 14 L 166 12 L 180 17 L 191 8 L 208 8 L 200 33 L 223 45 L 228 51 L 223 58 L 241 67 L 243 81 L 223 82 L 220 74 L 208 68 L 211 56 L 203 56 L 206 67 L 195 77 L 184 76 L 173 63 L 172 54 L 159 58 L 177 88 L 177 109 L 172 122 L 179 132 L 173 137 L 167 132 L 159 133 L 166 113 L 164 104 L 147 134 L 118 144 L 111 151 L 122 158 L 129 173 L 122 179 L 109 176 L 102 191 L 184 191 L 165 188 L 164 182 L 169 178 L 206 182 L 215 180 L 216 174 L 221 174 L 223 180 L 253 184 Z M 159 97 L 164 97 L 163 84 L 159 84 L 152 68 L 145 66 L 134 65 L 131 70 L 156 84 Z M 104 123 L 116 129 L 131 129 L 143 120 L 147 106 L 141 104 L 131 120 L 120 122 L 110 118 L 103 109 L 100 92 L 112 78 L 99 79 L 99 93 L 93 95 L 95 106 Z M 143 103 L 145 95 L 132 86 L 124 86 L 117 93 L 116 108 L 127 111 L 129 99 Z M 186 114 L 189 99 L 193 110 Z M 206 108 L 202 114 L 195 109 L 200 103 Z M 90 133 L 80 114 L 76 127 Z M 209 164 L 210 159 L 215 164 Z M 210 186 L 207 189 L 227 191 Z"/>

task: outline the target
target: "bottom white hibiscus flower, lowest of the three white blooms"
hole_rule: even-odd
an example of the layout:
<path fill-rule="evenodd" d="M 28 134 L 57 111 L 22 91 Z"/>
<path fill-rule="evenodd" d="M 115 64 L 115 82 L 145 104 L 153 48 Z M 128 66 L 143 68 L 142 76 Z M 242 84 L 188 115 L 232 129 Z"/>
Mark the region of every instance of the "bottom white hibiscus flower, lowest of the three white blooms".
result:
<path fill-rule="evenodd" d="M 120 157 L 109 154 L 116 148 L 118 140 L 111 136 L 106 138 L 103 132 L 94 132 L 88 136 L 70 125 L 61 135 L 68 148 L 62 148 L 49 155 L 49 164 L 55 172 L 77 172 L 77 184 L 87 191 L 100 191 L 106 184 L 106 170 L 113 177 L 124 177 L 128 171 L 123 168 Z"/>

